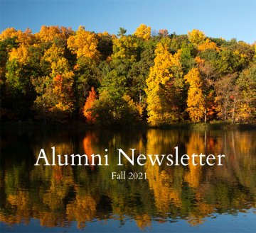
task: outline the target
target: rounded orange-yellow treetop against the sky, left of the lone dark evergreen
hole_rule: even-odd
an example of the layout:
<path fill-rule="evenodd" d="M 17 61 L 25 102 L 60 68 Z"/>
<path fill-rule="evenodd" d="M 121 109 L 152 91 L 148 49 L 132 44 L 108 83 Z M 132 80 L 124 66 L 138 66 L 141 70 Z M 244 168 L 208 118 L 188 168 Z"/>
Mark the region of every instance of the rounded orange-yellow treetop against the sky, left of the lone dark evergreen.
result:
<path fill-rule="evenodd" d="M 97 36 L 85 30 L 85 26 L 80 25 L 75 35 L 68 38 L 68 47 L 77 57 L 90 57 L 96 62 L 99 59 L 100 52 L 97 51 Z"/>

